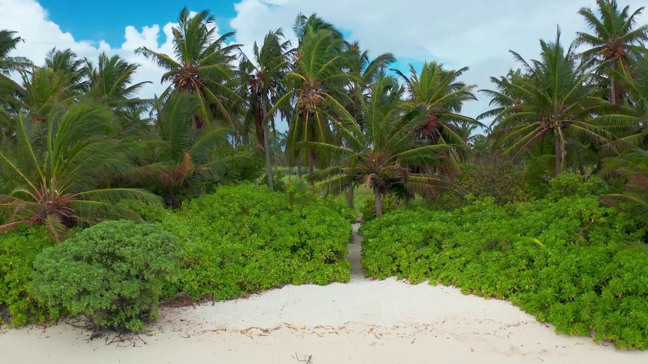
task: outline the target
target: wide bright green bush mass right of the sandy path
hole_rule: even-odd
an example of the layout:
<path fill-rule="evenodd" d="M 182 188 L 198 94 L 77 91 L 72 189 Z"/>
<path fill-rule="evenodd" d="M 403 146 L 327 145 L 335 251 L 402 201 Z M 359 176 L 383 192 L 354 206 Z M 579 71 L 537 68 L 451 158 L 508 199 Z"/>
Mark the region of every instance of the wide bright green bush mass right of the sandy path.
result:
<path fill-rule="evenodd" d="M 514 302 L 557 332 L 648 345 L 648 253 L 627 247 L 645 231 L 594 197 L 398 211 L 361 233 L 369 276 L 454 285 Z"/>

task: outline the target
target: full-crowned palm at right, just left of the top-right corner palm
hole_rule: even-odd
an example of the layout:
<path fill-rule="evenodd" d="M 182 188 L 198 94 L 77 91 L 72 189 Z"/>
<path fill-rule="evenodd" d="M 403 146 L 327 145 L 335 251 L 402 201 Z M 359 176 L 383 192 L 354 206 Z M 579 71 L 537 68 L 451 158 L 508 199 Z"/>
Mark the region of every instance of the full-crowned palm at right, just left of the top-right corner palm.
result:
<path fill-rule="evenodd" d="M 491 111 L 498 115 L 493 135 L 500 144 L 507 144 L 505 152 L 516 152 L 515 158 L 538 141 L 544 142 L 545 135 L 551 135 L 556 175 L 562 171 L 568 142 L 579 144 L 584 138 L 599 143 L 613 138 L 605 128 L 591 122 L 592 114 L 608 105 L 607 101 L 595 96 L 596 87 L 588 84 L 594 71 L 588 71 L 585 62 L 577 62 L 577 54 L 572 48 L 562 47 L 560 36 L 558 28 L 554 42 L 540 40 L 541 58 L 531 63 L 511 51 L 526 68 L 526 76 L 516 77 L 515 82 L 508 84 L 503 82 L 507 89 L 487 91 L 500 97 L 506 96 L 510 89 L 516 98 L 508 105 L 496 101 L 506 106 Z"/>

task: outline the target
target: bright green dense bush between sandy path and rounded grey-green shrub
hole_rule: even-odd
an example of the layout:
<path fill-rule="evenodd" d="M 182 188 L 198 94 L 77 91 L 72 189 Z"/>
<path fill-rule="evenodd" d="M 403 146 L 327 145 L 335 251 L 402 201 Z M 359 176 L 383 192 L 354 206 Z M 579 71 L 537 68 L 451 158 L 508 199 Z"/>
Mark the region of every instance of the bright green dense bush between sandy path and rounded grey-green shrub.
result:
<path fill-rule="evenodd" d="M 218 188 L 172 214 L 140 212 L 181 238 L 187 263 L 167 295 L 230 299 L 283 284 L 328 284 L 350 277 L 347 244 L 353 212 L 310 192 Z"/>

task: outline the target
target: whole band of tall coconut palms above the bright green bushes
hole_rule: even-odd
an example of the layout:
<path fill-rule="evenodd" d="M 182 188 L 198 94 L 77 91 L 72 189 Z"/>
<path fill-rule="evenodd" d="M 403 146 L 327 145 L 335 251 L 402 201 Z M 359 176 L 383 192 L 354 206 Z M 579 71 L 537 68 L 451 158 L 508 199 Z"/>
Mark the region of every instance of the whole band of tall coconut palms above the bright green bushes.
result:
<path fill-rule="evenodd" d="M 135 51 L 163 69 L 163 91 L 146 97 L 157 80 L 128 57 L 54 48 L 28 60 L 20 35 L 0 30 L 1 229 L 46 225 L 61 240 L 80 225 L 137 220 L 128 200 L 181 207 L 242 181 L 279 192 L 283 174 L 346 194 L 350 207 L 357 188 L 371 188 L 380 216 L 386 195 L 456 189 L 470 165 L 520 168 L 537 177 L 534 193 L 564 171 L 614 177 L 630 193 L 608 201 L 642 208 L 643 11 L 596 0 L 577 13 L 586 27 L 570 47 L 558 28 L 537 59 L 511 51 L 517 67 L 479 88 L 461 65 L 399 69 L 394 54 L 345 39 L 318 14 L 297 14 L 293 34 L 269 30 L 244 51 L 235 33 L 218 34 L 214 14 L 185 6 L 172 49 Z M 476 94 L 489 106 L 472 115 Z"/>

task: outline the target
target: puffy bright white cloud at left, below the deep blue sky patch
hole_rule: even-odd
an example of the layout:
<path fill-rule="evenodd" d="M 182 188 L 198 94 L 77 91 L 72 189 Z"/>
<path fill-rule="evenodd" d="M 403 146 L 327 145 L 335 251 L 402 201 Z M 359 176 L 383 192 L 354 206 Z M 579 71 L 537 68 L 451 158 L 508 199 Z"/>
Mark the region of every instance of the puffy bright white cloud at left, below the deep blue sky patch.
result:
<path fill-rule="evenodd" d="M 25 21 L 29 19 L 29 21 Z M 19 43 L 15 54 L 26 56 L 36 64 L 45 59 L 45 54 L 52 48 L 72 49 L 78 56 L 96 60 L 100 52 L 119 55 L 128 62 L 141 65 L 135 74 L 135 82 L 151 81 L 142 91 L 141 97 L 153 97 L 161 93 L 166 85 L 160 84 L 163 70 L 146 60 L 143 56 L 135 55 L 137 47 L 149 47 L 158 52 L 172 53 L 170 43 L 171 28 L 174 23 L 164 27 L 152 25 L 137 30 L 126 27 L 124 43 L 121 47 L 113 47 L 105 41 L 93 44 L 89 41 L 75 40 L 72 34 L 62 32 L 60 27 L 49 20 L 47 11 L 36 0 L 1 0 L 0 28 L 16 30 L 25 42 Z"/>

